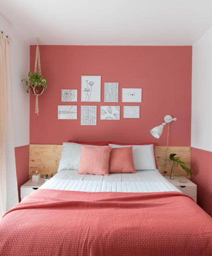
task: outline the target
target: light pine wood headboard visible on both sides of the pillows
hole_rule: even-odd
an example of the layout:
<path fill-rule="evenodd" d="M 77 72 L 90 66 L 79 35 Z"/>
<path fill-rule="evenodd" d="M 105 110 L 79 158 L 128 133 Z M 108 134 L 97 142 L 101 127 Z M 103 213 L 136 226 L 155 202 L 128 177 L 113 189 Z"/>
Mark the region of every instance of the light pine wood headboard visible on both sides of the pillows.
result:
<path fill-rule="evenodd" d="M 161 174 L 168 176 L 171 170 L 172 161 L 169 159 L 171 153 L 177 154 L 183 162 L 186 163 L 188 168 L 191 168 L 191 148 L 190 147 L 166 147 L 155 146 L 155 155 L 158 166 L 160 167 Z M 62 152 L 62 145 L 42 145 L 42 144 L 30 144 L 29 155 L 29 178 L 32 178 L 32 174 L 35 170 L 39 170 L 41 176 L 45 174 L 56 174 L 60 162 L 60 156 Z M 166 168 L 165 167 L 165 161 Z M 190 178 L 179 165 L 174 166 L 174 176 L 186 176 Z"/>

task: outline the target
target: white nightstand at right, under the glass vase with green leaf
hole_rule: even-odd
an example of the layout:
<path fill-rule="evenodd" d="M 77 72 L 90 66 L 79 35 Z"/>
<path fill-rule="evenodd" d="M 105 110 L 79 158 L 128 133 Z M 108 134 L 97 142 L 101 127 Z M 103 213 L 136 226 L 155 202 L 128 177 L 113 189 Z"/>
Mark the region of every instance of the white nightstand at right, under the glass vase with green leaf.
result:
<path fill-rule="evenodd" d="M 187 194 L 190 197 L 192 197 L 196 202 L 196 184 L 188 180 L 186 177 L 174 176 L 174 180 L 170 180 L 169 176 L 166 176 L 166 177 L 164 176 L 164 178 L 166 178 L 170 183 L 176 186 L 184 194 Z M 188 182 L 182 183 L 182 182 L 179 182 L 179 180 L 187 180 Z"/>

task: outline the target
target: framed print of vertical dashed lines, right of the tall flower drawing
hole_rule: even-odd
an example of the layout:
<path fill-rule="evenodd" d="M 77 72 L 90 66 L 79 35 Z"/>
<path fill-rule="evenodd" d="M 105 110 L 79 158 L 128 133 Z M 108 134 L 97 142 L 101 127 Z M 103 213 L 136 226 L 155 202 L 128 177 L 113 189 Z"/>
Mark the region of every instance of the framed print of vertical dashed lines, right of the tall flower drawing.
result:
<path fill-rule="evenodd" d="M 118 83 L 104 83 L 104 102 L 118 102 Z"/>

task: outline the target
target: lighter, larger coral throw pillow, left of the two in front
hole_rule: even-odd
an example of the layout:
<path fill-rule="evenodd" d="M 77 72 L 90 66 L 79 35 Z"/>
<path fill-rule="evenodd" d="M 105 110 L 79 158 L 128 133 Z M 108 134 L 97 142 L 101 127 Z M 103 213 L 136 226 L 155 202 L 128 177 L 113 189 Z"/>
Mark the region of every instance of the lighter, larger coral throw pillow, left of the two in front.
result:
<path fill-rule="evenodd" d="M 96 174 L 108 176 L 111 146 L 82 146 L 82 156 L 78 174 Z"/>

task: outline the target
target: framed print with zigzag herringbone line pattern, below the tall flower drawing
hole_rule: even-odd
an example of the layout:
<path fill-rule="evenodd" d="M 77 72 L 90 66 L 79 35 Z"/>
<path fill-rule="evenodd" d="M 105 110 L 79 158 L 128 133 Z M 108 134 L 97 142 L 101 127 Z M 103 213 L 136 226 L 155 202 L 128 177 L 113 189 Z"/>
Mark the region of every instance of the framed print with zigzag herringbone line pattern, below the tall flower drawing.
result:
<path fill-rule="evenodd" d="M 96 125 L 97 106 L 81 106 L 81 125 Z"/>

